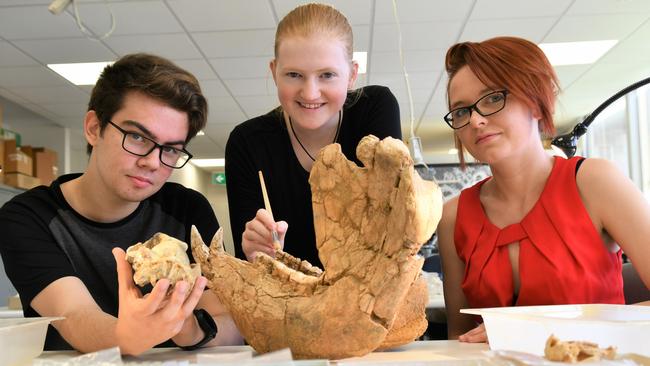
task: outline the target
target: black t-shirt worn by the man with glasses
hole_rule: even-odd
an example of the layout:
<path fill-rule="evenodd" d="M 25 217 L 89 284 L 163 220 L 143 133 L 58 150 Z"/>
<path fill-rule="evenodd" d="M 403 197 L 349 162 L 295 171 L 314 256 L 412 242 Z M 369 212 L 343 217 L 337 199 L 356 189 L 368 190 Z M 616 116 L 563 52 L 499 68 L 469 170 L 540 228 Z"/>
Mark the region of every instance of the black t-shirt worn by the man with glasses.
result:
<path fill-rule="evenodd" d="M 0 254 L 26 317 L 40 316 L 30 306 L 34 297 L 67 276 L 78 277 L 97 305 L 117 316 L 117 269 L 112 248 L 126 250 L 157 232 L 189 245 L 192 225 L 209 242 L 219 228 L 206 198 L 176 183 L 165 183 L 122 220 L 91 221 L 74 211 L 61 192 L 62 183 L 77 177 L 79 174 L 61 176 L 51 186 L 22 193 L 0 209 Z M 192 260 L 190 248 L 188 255 Z M 50 326 L 45 349 L 71 347 Z"/>

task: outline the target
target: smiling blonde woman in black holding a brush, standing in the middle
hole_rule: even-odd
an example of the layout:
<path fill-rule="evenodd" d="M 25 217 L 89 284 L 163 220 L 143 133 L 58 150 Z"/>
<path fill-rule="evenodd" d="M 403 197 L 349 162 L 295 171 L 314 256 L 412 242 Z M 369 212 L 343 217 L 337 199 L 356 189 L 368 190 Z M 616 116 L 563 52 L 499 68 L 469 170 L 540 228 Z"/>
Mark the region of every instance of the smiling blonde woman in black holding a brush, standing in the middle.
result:
<path fill-rule="evenodd" d="M 286 252 L 321 266 L 308 182 L 312 164 L 331 143 L 360 164 L 355 150 L 363 136 L 401 138 L 399 107 L 386 87 L 353 90 L 352 27 L 329 5 L 302 5 L 282 19 L 270 67 L 280 107 L 237 126 L 226 146 L 235 251 L 248 260 L 256 252 L 272 255 L 275 229 Z M 258 171 L 273 218 L 261 209 Z"/>

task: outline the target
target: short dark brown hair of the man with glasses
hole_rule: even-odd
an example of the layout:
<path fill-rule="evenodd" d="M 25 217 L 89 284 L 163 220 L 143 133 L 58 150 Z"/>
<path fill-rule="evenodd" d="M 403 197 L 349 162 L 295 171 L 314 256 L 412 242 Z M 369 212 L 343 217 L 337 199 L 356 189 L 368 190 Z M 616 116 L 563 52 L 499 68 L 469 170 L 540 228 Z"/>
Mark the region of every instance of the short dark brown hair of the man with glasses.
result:
<path fill-rule="evenodd" d="M 129 92 L 143 93 L 186 112 L 189 121 L 186 144 L 205 127 L 208 103 L 194 75 L 165 58 L 135 53 L 106 66 L 93 88 L 88 110 L 97 114 L 101 132 L 122 108 Z M 92 151 L 90 144 L 87 151 L 89 154 Z"/>

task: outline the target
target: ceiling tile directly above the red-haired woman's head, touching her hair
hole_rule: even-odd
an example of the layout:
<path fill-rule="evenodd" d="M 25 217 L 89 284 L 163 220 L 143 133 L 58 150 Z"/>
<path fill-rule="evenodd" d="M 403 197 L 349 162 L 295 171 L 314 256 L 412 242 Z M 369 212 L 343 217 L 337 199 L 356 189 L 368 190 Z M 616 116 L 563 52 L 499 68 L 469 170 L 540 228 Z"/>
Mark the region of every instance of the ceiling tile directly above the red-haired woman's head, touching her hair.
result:
<path fill-rule="evenodd" d="M 557 18 L 479 19 L 465 24 L 460 42 L 479 42 L 492 37 L 521 37 L 535 43 L 542 41 Z"/>

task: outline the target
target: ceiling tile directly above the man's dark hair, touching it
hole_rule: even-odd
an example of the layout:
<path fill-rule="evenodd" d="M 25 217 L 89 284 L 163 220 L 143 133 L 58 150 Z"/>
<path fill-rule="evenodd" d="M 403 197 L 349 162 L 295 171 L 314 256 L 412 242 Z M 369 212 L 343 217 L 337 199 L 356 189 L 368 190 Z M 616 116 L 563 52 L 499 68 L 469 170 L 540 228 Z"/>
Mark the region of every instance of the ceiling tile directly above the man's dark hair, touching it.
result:
<path fill-rule="evenodd" d="M 105 42 L 120 55 L 148 52 L 177 60 L 202 57 L 187 34 L 184 33 L 115 36 L 108 38 Z"/>

